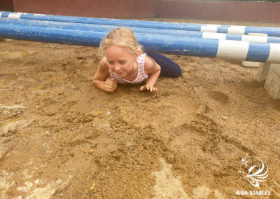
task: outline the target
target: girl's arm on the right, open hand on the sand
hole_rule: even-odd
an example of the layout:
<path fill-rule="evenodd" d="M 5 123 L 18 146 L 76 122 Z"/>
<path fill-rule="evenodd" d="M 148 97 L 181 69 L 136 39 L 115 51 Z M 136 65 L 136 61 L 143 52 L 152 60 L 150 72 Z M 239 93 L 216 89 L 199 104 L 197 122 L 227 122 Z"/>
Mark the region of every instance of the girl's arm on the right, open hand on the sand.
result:
<path fill-rule="evenodd" d="M 148 74 L 148 80 L 146 82 L 146 85 L 141 86 L 140 90 L 150 90 L 158 91 L 157 88 L 154 87 L 156 81 L 158 80 L 158 77 L 160 76 L 160 65 L 153 60 L 152 57 L 149 57 L 146 55 L 145 58 L 145 71 Z"/>

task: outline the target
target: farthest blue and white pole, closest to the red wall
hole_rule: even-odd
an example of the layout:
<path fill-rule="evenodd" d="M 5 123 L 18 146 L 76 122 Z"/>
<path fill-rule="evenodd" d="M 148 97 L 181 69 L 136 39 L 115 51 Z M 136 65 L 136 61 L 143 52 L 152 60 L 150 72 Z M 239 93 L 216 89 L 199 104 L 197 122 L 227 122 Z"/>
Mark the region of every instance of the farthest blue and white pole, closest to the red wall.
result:
<path fill-rule="evenodd" d="M 277 27 L 250 27 L 250 26 L 233 26 L 233 25 L 203 25 L 191 23 L 175 23 L 175 22 L 155 22 L 144 20 L 117 20 L 105 18 L 82 18 L 62 15 L 41 15 L 33 13 L 13 13 L 0 12 L 0 18 L 26 19 L 26 20 L 46 20 L 56 22 L 75 22 L 85 24 L 99 25 L 118 25 L 129 27 L 146 27 L 160 29 L 181 29 L 197 32 L 218 32 L 225 34 L 248 34 L 260 33 L 268 36 L 280 36 L 280 28 Z"/>

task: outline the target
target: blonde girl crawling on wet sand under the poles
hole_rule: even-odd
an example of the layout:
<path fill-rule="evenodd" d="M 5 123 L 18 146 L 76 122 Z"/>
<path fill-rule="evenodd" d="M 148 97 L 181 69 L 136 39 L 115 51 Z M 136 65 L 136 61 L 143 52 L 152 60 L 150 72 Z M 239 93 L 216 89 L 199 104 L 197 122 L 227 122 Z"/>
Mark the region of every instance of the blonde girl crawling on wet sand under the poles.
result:
<path fill-rule="evenodd" d="M 140 90 L 158 91 L 154 87 L 160 74 L 177 77 L 182 71 L 178 64 L 158 53 L 144 53 L 131 29 L 113 29 L 100 43 L 99 52 L 104 56 L 93 77 L 94 85 L 112 93 L 117 83 L 141 83 Z M 110 76 L 110 78 L 109 78 Z"/>

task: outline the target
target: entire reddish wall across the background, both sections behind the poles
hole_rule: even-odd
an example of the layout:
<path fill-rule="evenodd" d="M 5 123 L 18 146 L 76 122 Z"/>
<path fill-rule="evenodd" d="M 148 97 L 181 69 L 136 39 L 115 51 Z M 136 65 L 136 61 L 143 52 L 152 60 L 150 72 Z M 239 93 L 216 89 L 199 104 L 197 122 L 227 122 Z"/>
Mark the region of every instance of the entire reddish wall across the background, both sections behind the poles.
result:
<path fill-rule="evenodd" d="M 280 22 L 280 3 L 180 0 L 1 0 L 15 12 L 100 18 L 196 18 Z"/>

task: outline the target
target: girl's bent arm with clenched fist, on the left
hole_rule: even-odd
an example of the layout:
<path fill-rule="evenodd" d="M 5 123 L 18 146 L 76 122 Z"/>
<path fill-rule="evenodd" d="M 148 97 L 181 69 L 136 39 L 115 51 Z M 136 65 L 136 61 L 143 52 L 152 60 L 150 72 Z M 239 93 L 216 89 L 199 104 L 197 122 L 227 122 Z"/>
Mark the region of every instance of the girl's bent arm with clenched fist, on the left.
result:
<path fill-rule="evenodd" d="M 114 78 L 108 78 L 109 76 L 107 60 L 106 57 L 103 57 L 99 62 L 97 72 L 93 76 L 94 85 L 105 92 L 114 92 L 117 89 L 117 82 Z"/>

